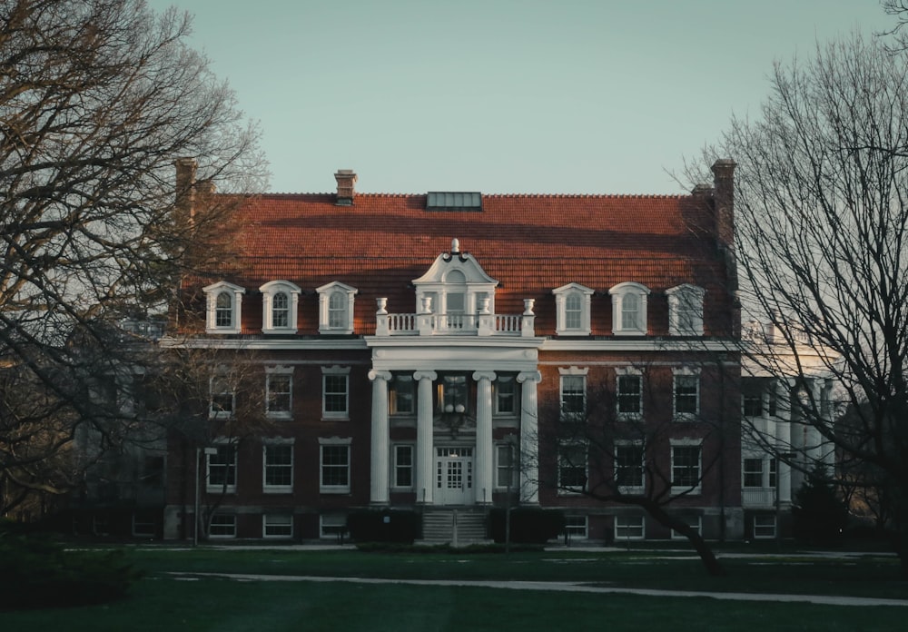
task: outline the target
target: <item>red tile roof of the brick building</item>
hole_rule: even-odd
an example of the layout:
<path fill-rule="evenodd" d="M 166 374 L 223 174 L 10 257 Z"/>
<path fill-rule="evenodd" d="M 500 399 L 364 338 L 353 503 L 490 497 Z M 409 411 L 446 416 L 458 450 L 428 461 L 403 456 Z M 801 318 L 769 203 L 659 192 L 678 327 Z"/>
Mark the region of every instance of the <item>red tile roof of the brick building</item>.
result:
<path fill-rule="evenodd" d="M 461 252 L 472 254 L 500 282 L 498 313 L 520 313 L 523 299 L 537 300 L 539 334 L 554 332 L 551 291 L 569 282 L 602 292 L 621 281 L 643 283 L 653 291 L 656 313 L 662 292 L 690 282 L 706 288 L 707 304 L 728 311 L 708 197 L 486 195 L 481 212 L 425 206 L 425 195 L 357 194 L 352 206 L 335 205 L 333 194 L 253 198 L 239 211 L 245 228 L 235 263 L 242 272 L 226 280 L 258 290 L 284 279 L 304 291 L 342 281 L 359 290 L 356 328 L 370 333 L 375 299 L 388 298 L 390 312 L 416 311 L 410 281 L 457 238 Z M 212 280 L 220 280 L 218 272 Z M 599 321 L 594 333 L 607 334 L 610 301 L 593 301 L 594 312 L 609 312 L 609 322 Z M 313 311 L 313 302 L 304 296 L 301 314 Z M 244 301 L 243 311 L 249 309 L 256 308 Z M 317 331 L 317 322 L 309 321 L 307 316 L 304 325 L 301 317 L 301 333 Z"/>

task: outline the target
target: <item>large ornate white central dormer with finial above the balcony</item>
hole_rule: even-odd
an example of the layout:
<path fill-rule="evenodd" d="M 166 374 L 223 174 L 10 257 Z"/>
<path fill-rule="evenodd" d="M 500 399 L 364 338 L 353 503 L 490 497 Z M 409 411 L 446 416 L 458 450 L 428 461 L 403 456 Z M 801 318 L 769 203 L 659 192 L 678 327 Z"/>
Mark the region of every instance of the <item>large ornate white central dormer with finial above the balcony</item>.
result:
<path fill-rule="evenodd" d="M 495 288 L 492 279 L 469 254 L 460 252 L 458 240 L 450 252 L 439 254 L 429 271 L 413 281 L 417 313 L 443 314 L 469 318 L 479 311 L 495 313 Z"/>

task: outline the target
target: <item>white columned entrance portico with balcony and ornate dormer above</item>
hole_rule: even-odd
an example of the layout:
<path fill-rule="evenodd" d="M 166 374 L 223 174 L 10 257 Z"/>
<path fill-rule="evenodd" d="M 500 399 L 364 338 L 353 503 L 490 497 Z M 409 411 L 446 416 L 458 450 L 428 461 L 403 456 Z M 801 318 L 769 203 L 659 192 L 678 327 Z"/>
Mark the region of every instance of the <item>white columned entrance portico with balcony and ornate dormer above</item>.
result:
<path fill-rule="evenodd" d="M 411 489 L 417 503 L 488 505 L 501 489 L 497 470 L 506 467 L 513 469 L 521 502 L 537 503 L 535 459 L 518 464 L 519 454 L 535 456 L 538 440 L 543 339 L 534 335 L 532 301 L 521 314 L 494 313 L 498 282 L 459 252 L 457 240 L 413 285 L 417 312 L 390 314 L 379 299 L 376 335 L 366 338 L 372 350 L 370 502 L 388 504 L 398 482 L 392 480 L 395 425 L 415 428 Z"/>

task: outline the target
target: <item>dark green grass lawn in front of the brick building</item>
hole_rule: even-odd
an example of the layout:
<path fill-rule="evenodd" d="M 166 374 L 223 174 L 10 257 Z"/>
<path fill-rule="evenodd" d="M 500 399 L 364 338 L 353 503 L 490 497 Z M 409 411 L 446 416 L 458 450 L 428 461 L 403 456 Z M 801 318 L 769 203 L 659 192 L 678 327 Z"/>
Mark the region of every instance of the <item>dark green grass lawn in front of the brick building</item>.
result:
<path fill-rule="evenodd" d="M 221 572 L 361 578 L 573 581 L 629 588 L 908 599 L 894 558 L 696 559 L 659 551 L 363 553 L 134 548 L 146 572 L 130 597 L 95 607 L 0 613 L 0 630 L 901 630 L 908 607 L 830 607 L 708 597 L 555 593 L 400 584 L 236 581 Z M 180 577 L 173 573 L 187 573 Z"/>

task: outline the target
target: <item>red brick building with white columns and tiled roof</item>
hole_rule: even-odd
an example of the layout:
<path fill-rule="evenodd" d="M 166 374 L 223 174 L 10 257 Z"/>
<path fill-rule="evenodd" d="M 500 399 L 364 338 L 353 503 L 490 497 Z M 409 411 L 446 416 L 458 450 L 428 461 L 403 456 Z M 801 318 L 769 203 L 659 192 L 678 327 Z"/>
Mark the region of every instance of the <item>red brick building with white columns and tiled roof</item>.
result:
<path fill-rule="evenodd" d="M 734 167 L 678 196 L 357 193 L 340 171 L 244 201 L 232 256 L 182 288 L 199 326 L 165 341 L 219 359 L 213 430 L 170 441 L 164 537 L 197 510 L 215 538 L 330 537 L 380 507 L 449 539 L 454 509 L 466 533 L 517 504 L 573 538 L 671 537 L 641 499 L 742 537 Z M 242 437 L 218 430 L 242 427 L 237 362 L 264 419 Z"/>

